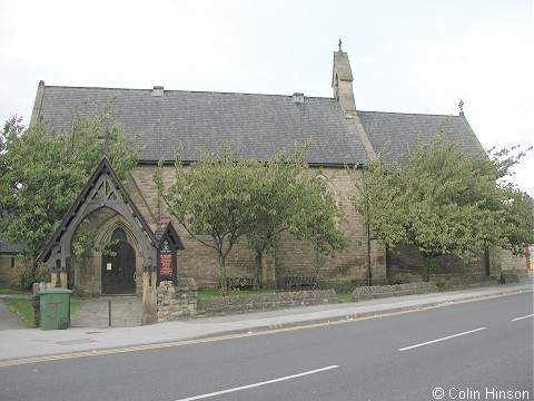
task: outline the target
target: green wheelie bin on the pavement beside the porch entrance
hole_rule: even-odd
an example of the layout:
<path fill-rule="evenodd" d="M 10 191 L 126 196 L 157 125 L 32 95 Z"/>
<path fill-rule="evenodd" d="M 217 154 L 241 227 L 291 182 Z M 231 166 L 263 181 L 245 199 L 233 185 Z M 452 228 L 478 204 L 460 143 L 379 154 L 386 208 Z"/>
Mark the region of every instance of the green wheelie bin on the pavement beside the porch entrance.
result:
<path fill-rule="evenodd" d="M 67 288 L 47 288 L 39 293 L 41 330 L 65 330 L 70 324 L 70 294 Z"/>

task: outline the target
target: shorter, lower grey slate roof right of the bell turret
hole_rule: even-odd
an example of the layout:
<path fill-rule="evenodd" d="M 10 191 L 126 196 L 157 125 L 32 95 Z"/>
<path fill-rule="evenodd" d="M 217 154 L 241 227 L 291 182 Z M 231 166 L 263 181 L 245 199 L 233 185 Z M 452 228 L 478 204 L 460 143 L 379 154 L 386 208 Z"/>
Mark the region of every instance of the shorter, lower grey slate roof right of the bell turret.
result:
<path fill-rule="evenodd" d="M 458 143 L 464 151 L 484 151 L 467 120 L 461 116 L 358 111 L 359 120 L 377 154 L 387 160 L 406 162 L 406 150 L 429 143 L 441 134 L 446 144 Z"/>

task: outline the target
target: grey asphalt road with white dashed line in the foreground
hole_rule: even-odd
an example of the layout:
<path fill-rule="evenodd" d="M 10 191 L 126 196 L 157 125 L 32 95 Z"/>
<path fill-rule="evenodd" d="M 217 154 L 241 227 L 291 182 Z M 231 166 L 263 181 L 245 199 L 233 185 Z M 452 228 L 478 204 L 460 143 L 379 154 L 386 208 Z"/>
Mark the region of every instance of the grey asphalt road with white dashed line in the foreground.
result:
<path fill-rule="evenodd" d="M 532 400 L 533 293 L 0 368 L 0 400 Z"/>

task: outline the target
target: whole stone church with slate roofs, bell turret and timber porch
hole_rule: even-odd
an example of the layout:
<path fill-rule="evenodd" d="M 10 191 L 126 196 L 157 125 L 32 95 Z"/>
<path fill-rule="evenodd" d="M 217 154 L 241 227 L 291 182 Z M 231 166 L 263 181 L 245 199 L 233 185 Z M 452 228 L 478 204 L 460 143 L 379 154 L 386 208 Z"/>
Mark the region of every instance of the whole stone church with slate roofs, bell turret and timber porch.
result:
<path fill-rule="evenodd" d="M 458 116 L 362 111 L 356 108 L 353 74 L 346 52 L 334 52 L 332 98 L 254 95 L 208 91 L 117 89 L 46 86 L 39 84 L 31 124 L 42 116 L 58 129 L 70 129 L 81 109 L 96 116 L 116 97 L 113 120 L 127 135 L 140 133 L 144 146 L 138 165 L 122 185 L 103 158 L 80 196 L 41 253 L 52 277 L 77 293 L 141 294 L 142 282 L 154 272 L 159 277 L 192 277 L 200 288 L 215 287 L 219 280 L 217 257 L 209 248 L 190 241 L 181 227 L 168 218 L 152 182 L 158 160 L 174 160 L 184 146 L 184 162 L 196 159 L 198 149 L 214 150 L 227 140 L 247 158 L 267 160 L 295 143 L 312 139 L 310 168 L 320 167 L 320 179 L 335 195 L 346 215 L 340 223 L 349 235 L 348 250 L 317 266 L 312 248 L 291 236 L 281 241 L 264 258 L 261 284 L 284 285 L 288 277 L 320 277 L 325 285 L 395 284 L 421 281 L 423 261 L 417 252 L 399 247 L 389 252 L 366 239 L 362 216 L 350 203 L 354 184 L 344 168 L 365 165 L 384 148 L 398 158 L 408 146 L 429 141 L 443 133 L 447 141 L 458 141 L 465 151 L 484 151 L 463 111 Z M 164 167 L 164 179 L 171 183 L 174 165 Z M 319 170 L 318 170 L 319 172 Z M 82 222 L 97 228 L 97 243 L 113 241 L 113 256 L 92 252 L 88 260 L 72 263 L 72 236 Z M 367 263 L 370 254 L 370 265 Z M 238 244 L 227 261 L 234 277 L 254 277 L 255 257 Z M 432 280 L 449 277 L 479 280 L 498 276 L 502 270 L 523 268 L 524 260 L 504 252 L 481 255 L 465 264 L 443 257 Z M 142 277 L 142 278 L 141 278 Z M 154 278 L 156 280 L 156 278 Z"/>

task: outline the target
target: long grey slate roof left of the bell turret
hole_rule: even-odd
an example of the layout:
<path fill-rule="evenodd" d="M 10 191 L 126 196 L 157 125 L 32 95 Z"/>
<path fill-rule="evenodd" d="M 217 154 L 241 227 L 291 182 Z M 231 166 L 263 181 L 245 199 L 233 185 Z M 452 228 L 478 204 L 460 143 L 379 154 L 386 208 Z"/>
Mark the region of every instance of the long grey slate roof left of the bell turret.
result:
<path fill-rule="evenodd" d="M 339 165 L 368 162 L 354 121 L 345 118 L 335 99 L 152 89 L 112 89 L 46 86 L 40 114 L 58 128 L 69 129 L 80 106 L 89 116 L 101 113 L 111 97 L 113 119 L 128 135 L 142 134 L 140 163 L 174 160 L 185 146 L 184 160 L 198 158 L 198 149 L 220 148 L 222 139 L 244 157 L 267 160 L 295 143 L 312 138 L 308 163 Z"/>

